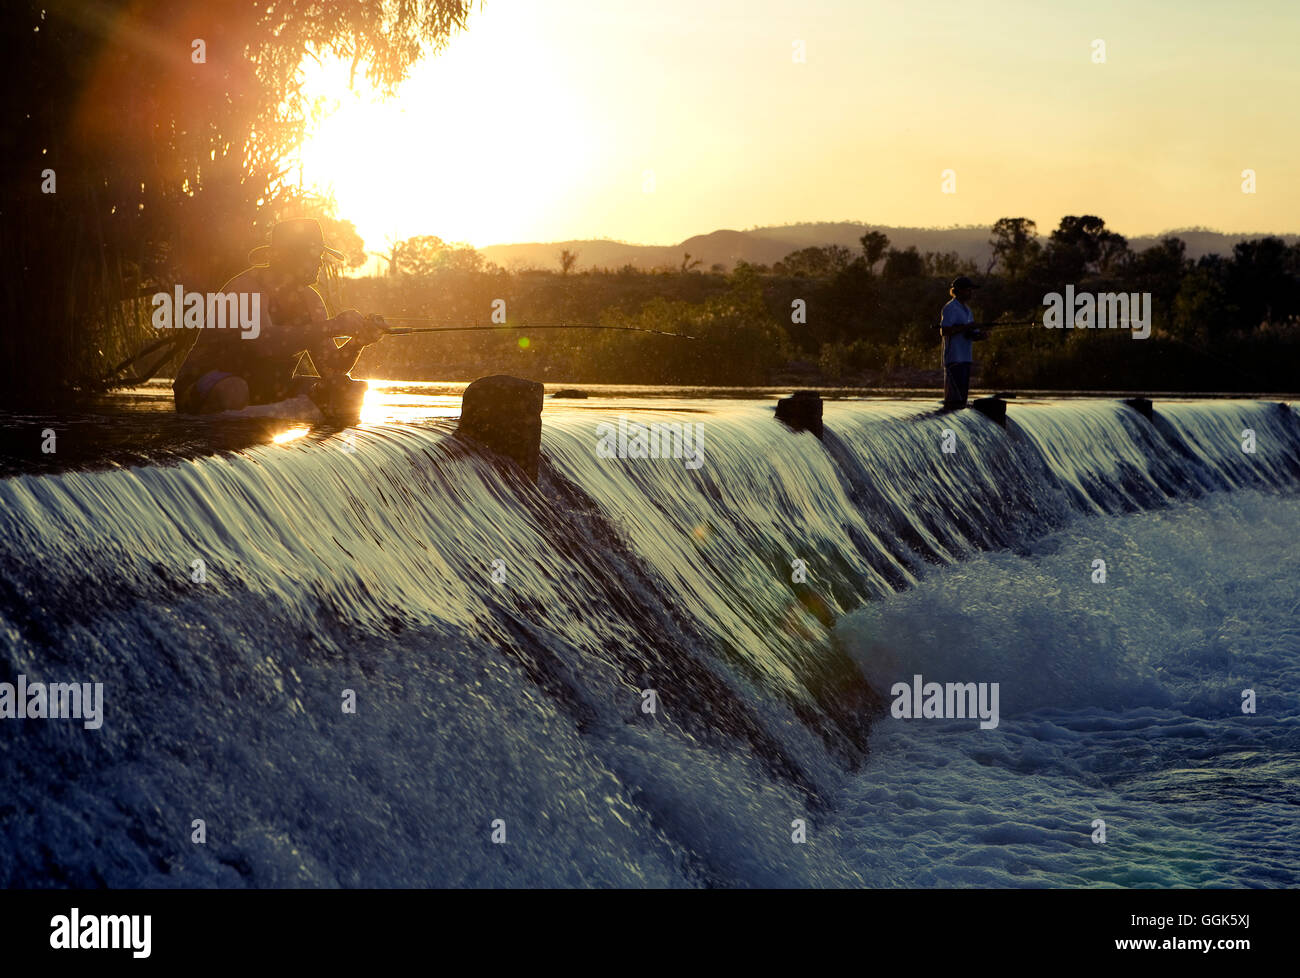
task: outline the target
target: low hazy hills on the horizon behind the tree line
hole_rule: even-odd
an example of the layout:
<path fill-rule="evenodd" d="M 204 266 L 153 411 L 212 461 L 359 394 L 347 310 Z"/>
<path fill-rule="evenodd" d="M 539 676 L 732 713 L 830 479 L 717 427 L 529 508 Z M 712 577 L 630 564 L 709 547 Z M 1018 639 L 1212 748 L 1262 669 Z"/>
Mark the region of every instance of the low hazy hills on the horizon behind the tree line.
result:
<path fill-rule="evenodd" d="M 749 230 L 716 230 L 708 234 L 696 234 L 680 244 L 629 244 L 621 241 L 556 241 L 530 242 L 521 244 L 490 244 L 480 251 L 489 261 L 504 268 L 559 268 L 562 250 L 577 252 L 577 268 L 633 268 L 650 269 L 660 267 L 677 268 L 682 256 L 690 252 L 690 260 L 699 259 L 701 268 L 708 269 L 720 264 L 731 271 L 737 261 L 771 265 L 792 251 L 811 246 L 842 244 L 857 252 L 858 238 L 868 230 L 879 230 L 889 235 L 889 243 L 896 248 L 914 246 L 918 251 L 956 251 L 962 259 L 974 259 L 983 268 L 989 260 L 989 228 L 887 228 L 884 225 L 854 224 L 852 221 L 816 221 L 809 224 L 788 224 L 775 228 L 751 228 Z M 1041 238 L 1046 238 L 1050 228 L 1040 228 Z M 1266 237 L 1269 231 L 1257 234 L 1225 234 L 1206 228 L 1187 228 L 1162 231 L 1161 234 L 1141 234 L 1128 239 L 1135 251 L 1148 248 L 1161 238 L 1175 235 L 1187 243 L 1190 258 L 1200 258 L 1213 252 L 1228 255 L 1232 246 L 1240 241 Z M 1296 234 L 1279 234 L 1288 244 L 1300 241 Z"/>

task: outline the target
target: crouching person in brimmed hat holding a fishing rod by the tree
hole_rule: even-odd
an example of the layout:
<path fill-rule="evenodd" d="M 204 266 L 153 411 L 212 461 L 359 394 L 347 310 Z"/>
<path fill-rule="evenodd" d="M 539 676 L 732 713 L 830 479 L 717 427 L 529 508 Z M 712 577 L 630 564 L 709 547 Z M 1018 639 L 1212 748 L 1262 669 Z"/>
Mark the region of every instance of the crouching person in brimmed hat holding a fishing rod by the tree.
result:
<path fill-rule="evenodd" d="M 317 221 L 282 221 L 272 229 L 270 246 L 248 255 L 265 264 L 255 264 L 221 287 L 222 293 L 261 294 L 256 338 L 246 339 L 239 330 L 200 329 L 172 385 L 178 412 L 238 411 L 306 393 L 328 403 L 354 384 L 364 390 L 348 371 L 384 330 L 356 310 L 326 316 L 315 289 L 326 256 L 343 258 L 326 247 Z M 350 337 L 342 347 L 333 339 L 341 336 Z M 304 352 L 320 380 L 294 376 Z"/>

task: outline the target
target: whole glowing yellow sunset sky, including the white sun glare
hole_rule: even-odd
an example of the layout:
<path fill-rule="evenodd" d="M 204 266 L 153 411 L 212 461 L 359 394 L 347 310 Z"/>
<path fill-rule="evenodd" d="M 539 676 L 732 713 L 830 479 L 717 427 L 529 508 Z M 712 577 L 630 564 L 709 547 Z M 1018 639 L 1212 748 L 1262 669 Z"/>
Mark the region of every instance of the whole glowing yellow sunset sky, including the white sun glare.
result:
<path fill-rule="evenodd" d="M 304 178 L 333 187 L 372 248 L 670 244 L 820 220 L 1046 230 L 1065 213 L 1130 235 L 1295 231 L 1300 4 L 1088 8 L 488 0 L 386 104 L 309 72 L 338 107 Z"/>

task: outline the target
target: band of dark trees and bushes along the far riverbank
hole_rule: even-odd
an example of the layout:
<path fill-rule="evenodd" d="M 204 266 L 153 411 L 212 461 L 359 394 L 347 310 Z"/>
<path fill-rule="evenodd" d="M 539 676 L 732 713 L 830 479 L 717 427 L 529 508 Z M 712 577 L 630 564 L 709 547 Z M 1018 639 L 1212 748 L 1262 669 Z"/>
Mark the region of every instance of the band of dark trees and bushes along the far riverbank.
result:
<path fill-rule="evenodd" d="M 372 376 L 469 380 L 510 369 L 543 380 L 628 384 L 933 386 L 935 324 L 948 284 L 971 276 L 980 320 L 1041 320 L 1048 293 L 1152 294 L 1152 336 L 1031 329 L 979 347 L 985 386 L 1150 390 L 1294 390 L 1300 352 L 1300 244 L 1239 243 L 1231 255 L 1186 258 L 1178 238 L 1134 252 L 1095 216 L 1069 216 L 1046 239 L 1023 217 L 992 228 L 992 260 L 890 247 L 806 247 L 772 267 L 702 271 L 585 269 L 564 251 L 555 269 L 507 272 L 467 246 L 412 239 L 408 260 L 378 278 L 342 280 L 346 302 L 391 315 L 486 321 L 502 299 L 511 323 L 590 321 L 701 337 L 628 333 L 451 334 L 389 341 L 363 360 Z M 432 247 L 430 254 L 421 248 Z M 394 265 L 389 265 L 391 269 Z M 801 311 L 796 311 L 796 310 Z"/>

